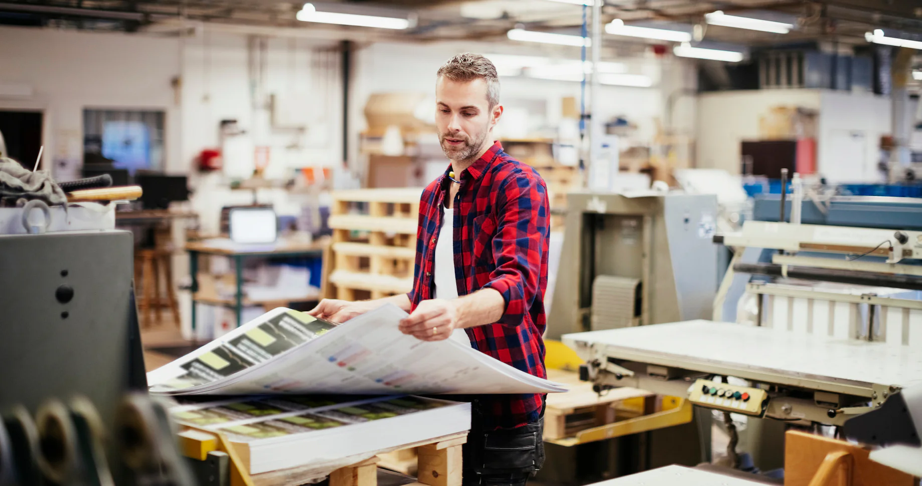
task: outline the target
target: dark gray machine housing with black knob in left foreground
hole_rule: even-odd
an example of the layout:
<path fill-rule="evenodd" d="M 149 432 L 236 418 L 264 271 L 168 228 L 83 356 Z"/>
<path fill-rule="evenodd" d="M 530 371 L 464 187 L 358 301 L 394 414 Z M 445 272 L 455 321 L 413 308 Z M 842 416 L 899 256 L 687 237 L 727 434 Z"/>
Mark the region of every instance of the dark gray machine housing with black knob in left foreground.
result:
<path fill-rule="evenodd" d="M 147 390 L 127 231 L 0 235 L 0 410 L 90 399 L 112 430 L 116 404 Z"/>

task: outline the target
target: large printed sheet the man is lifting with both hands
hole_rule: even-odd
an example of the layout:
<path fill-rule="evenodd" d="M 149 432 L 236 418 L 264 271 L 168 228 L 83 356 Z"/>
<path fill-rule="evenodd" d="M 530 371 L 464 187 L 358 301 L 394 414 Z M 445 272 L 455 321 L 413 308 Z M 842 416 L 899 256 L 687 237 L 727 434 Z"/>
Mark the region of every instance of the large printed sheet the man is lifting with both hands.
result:
<path fill-rule="evenodd" d="M 148 373 L 151 393 L 493 394 L 566 391 L 454 340 L 398 330 L 393 305 L 335 325 L 279 307 Z"/>

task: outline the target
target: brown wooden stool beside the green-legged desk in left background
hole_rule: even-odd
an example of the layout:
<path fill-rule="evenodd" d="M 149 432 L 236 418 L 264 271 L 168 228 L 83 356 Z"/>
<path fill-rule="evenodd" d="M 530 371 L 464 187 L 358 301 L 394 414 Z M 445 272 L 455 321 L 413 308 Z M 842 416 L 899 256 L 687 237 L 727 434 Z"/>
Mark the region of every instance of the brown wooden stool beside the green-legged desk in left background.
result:
<path fill-rule="evenodd" d="M 153 320 L 151 312 L 160 322 L 160 309 L 169 307 L 173 322 L 179 325 L 179 304 L 172 286 L 171 253 L 166 249 L 136 249 L 135 283 L 141 283 L 141 295 L 138 299 L 138 314 L 144 316 L 143 325 L 149 327 Z M 160 294 L 160 278 L 165 280 L 166 295 Z"/>

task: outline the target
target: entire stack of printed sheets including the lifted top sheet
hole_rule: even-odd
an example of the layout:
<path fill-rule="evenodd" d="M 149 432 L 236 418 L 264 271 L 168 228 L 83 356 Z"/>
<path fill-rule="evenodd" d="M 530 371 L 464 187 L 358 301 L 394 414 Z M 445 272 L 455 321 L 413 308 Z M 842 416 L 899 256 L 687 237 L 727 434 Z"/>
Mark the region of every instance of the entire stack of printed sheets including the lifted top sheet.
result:
<path fill-rule="evenodd" d="M 470 429 L 469 403 L 409 395 L 566 390 L 456 341 L 403 334 L 406 317 L 387 305 L 337 325 L 278 307 L 148 373 L 150 391 L 179 402 L 178 422 L 226 435 L 259 474 Z M 205 395 L 252 397 L 195 403 Z"/>

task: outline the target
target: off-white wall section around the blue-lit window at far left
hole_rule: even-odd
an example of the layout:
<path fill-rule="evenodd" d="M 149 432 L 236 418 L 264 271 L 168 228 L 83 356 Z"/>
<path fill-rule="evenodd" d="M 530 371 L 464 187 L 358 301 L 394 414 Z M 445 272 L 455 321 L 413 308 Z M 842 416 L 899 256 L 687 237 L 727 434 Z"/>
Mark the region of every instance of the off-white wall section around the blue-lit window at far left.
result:
<path fill-rule="evenodd" d="M 182 126 L 171 87 L 178 41 L 4 27 L 0 45 L 0 83 L 32 89 L 28 98 L 0 97 L 0 110 L 44 111 L 45 164 L 82 160 L 84 108 L 124 108 L 166 112 L 165 158 L 178 167 L 180 147 L 171 142 Z"/>

